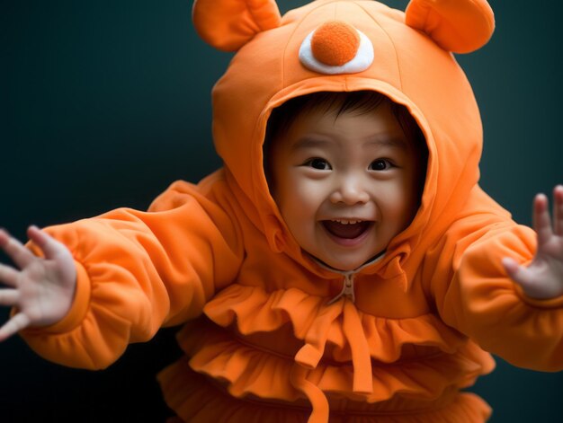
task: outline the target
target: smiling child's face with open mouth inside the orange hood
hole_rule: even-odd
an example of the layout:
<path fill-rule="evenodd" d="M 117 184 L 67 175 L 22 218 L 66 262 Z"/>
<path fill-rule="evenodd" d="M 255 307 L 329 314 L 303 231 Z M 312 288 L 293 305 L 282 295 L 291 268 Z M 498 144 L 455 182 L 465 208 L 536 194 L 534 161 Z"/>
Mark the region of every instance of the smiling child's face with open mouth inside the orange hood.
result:
<path fill-rule="evenodd" d="M 388 104 L 311 110 L 273 143 L 272 192 L 301 248 L 353 270 L 384 251 L 418 207 L 419 163 Z"/>

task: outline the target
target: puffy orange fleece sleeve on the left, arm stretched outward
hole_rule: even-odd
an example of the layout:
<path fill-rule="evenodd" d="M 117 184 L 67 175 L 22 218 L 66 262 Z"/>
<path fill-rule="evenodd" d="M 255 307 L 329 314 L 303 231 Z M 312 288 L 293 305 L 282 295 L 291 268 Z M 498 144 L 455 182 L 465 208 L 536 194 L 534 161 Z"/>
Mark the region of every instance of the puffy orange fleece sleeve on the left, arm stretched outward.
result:
<path fill-rule="evenodd" d="M 130 342 L 201 314 L 243 253 L 231 215 L 200 191 L 176 182 L 148 212 L 121 208 L 49 227 L 76 260 L 76 297 L 63 321 L 22 332 L 31 348 L 65 366 L 103 368 Z"/>

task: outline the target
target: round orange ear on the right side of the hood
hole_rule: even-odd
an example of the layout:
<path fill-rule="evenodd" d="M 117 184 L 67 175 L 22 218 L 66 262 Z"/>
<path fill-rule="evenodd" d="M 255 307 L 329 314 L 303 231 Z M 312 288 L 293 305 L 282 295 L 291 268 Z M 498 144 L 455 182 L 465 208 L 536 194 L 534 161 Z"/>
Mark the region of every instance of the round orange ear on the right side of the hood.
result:
<path fill-rule="evenodd" d="M 453 53 L 483 47 L 495 31 L 495 15 L 487 0 L 411 0 L 406 23 Z"/>

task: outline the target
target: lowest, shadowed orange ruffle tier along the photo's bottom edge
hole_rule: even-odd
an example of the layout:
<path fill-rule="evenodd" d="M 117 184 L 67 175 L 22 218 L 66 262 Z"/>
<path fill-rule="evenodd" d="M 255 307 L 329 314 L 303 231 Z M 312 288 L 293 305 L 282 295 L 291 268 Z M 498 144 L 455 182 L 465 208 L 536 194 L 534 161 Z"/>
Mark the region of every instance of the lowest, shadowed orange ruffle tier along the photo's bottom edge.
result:
<path fill-rule="evenodd" d="M 241 422 L 273 423 L 306 422 L 311 408 L 299 403 L 281 403 L 238 400 L 219 386 L 210 383 L 204 375 L 192 371 L 184 357 L 158 375 L 165 401 L 183 421 L 192 423 Z M 478 423 L 487 420 L 490 408 L 485 401 L 472 393 L 461 393 L 438 408 L 419 410 L 373 410 L 370 404 L 360 404 L 358 410 L 340 413 L 331 410 L 331 423 Z M 310 420 L 309 420 L 310 421 Z"/>

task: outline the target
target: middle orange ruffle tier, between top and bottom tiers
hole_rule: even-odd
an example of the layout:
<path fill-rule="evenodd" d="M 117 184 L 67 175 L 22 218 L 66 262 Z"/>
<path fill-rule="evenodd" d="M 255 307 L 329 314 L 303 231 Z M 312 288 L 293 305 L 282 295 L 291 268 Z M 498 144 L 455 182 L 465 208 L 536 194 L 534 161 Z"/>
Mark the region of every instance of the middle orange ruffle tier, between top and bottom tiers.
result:
<path fill-rule="evenodd" d="M 469 342 L 456 354 L 371 366 L 371 372 L 364 369 L 369 372 L 365 376 L 371 390 L 357 392 L 354 374 L 358 369 L 354 369 L 352 363 L 323 360 L 314 368 L 304 368 L 296 364 L 293 357 L 246 345 L 242 339 L 211 322 L 186 325 L 178 339 L 185 353 L 192 357 L 193 370 L 225 383 L 228 392 L 238 398 L 251 395 L 290 402 L 307 401 L 309 395 L 305 396 L 299 386 L 313 383 L 322 392 L 352 401 L 387 401 L 398 393 L 411 399 L 435 400 L 449 387 L 459 389 L 471 385 L 494 366 L 487 353 Z"/>

